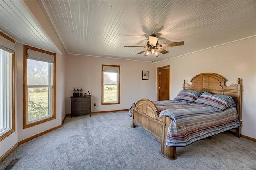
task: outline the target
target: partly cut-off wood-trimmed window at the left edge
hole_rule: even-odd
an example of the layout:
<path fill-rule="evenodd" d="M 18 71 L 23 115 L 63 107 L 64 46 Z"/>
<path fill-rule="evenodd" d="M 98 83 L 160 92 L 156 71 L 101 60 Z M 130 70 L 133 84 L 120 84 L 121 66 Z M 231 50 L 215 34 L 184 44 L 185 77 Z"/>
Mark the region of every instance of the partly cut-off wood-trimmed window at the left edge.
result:
<path fill-rule="evenodd" d="M 15 41 L 1 33 L 0 46 L 0 141 L 15 132 Z"/>

